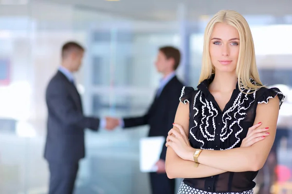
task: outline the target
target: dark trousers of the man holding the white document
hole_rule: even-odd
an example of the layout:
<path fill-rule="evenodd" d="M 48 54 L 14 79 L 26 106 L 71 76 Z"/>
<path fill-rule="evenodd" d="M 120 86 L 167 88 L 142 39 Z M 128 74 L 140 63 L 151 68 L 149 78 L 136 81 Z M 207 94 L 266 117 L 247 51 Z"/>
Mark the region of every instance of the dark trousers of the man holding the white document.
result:
<path fill-rule="evenodd" d="M 175 179 L 169 179 L 166 173 L 150 173 L 152 194 L 174 194 Z"/>

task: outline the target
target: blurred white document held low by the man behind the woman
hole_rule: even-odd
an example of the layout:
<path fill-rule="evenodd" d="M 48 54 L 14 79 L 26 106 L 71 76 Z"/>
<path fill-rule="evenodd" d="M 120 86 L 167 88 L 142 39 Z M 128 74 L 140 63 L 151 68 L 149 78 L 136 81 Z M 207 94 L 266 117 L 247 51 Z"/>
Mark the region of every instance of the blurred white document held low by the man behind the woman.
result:
<path fill-rule="evenodd" d="M 140 171 L 156 172 L 155 163 L 160 159 L 165 137 L 145 137 L 140 139 Z"/>

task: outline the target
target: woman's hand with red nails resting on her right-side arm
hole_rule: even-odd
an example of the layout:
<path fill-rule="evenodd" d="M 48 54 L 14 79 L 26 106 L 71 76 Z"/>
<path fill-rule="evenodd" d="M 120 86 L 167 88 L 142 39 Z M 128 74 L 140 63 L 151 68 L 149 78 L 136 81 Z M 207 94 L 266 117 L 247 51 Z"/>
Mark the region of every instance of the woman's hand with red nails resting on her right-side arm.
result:
<path fill-rule="evenodd" d="M 258 128 L 259 126 L 261 126 L 261 124 L 262 123 L 259 122 L 258 124 L 254 125 L 248 129 L 247 135 L 242 140 L 240 147 L 252 146 L 256 142 L 259 142 L 259 141 L 265 139 L 266 136 L 270 135 L 270 133 L 267 132 L 267 130 L 269 130 L 269 128 Z"/>

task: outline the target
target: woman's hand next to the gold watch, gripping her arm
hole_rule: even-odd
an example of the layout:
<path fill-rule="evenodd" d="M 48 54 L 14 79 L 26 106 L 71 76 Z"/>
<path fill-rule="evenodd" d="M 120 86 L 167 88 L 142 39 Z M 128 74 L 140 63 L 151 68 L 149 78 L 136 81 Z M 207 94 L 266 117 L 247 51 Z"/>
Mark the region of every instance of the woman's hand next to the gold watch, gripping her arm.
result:
<path fill-rule="evenodd" d="M 183 130 L 183 127 L 179 124 L 173 124 L 173 126 L 177 127 L 179 130 L 170 129 L 166 138 L 165 146 L 170 146 L 183 160 L 194 161 L 193 153 L 195 149 L 190 146 L 190 142 Z"/>

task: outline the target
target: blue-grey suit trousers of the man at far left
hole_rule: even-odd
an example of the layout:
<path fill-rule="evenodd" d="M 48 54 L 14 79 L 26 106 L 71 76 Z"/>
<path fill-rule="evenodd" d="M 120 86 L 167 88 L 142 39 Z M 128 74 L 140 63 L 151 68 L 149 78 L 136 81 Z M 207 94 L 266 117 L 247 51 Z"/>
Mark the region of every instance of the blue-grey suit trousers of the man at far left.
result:
<path fill-rule="evenodd" d="M 73 194 L 78 171 L 77 163 L 49 162 L 49 194 Z"/>

